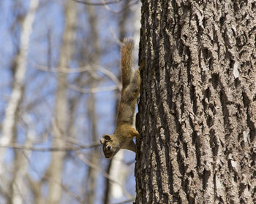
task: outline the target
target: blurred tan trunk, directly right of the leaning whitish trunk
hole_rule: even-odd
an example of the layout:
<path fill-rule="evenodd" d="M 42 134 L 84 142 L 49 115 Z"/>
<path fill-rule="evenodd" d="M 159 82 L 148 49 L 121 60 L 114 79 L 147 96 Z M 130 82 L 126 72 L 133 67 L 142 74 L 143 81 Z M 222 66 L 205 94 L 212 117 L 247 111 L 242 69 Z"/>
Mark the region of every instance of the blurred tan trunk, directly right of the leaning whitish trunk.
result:
<path fill-rule="evenodd" d="M 53 119 L 53 146 L 64 147 L 64 137 L 67 136 L 67 74 L 62 70 L 69 67 L 69 59 L 73 53 L 75 38 L 76 7 L 74 1 L 67 1 L 65 5 L 66 25 L 63 36 L 63 45 L 59 56 L 58 85 L 56 90 L 56 113 Z M 64 167 L 65 152 L 53 152 L 48 168 L 49 195 L 48 203 L 56 204 L 61 200 L 61 178 Z"/>

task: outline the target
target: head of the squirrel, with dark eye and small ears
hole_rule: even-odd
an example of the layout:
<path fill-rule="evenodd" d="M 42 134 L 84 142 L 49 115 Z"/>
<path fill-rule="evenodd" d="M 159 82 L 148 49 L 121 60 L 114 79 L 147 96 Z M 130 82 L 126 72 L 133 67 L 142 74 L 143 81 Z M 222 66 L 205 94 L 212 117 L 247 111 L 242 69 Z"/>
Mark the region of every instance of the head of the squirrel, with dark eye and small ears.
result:
<path fill-rule="evenodd" d="M 110 159 L 118 152 L 120 146 L 114 136 L 104 135 L 103 138 L 99 139 L 102 144 L 102 149 L 106 158 Z"/>

